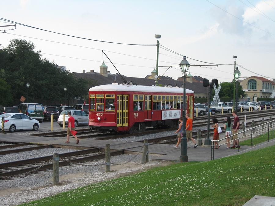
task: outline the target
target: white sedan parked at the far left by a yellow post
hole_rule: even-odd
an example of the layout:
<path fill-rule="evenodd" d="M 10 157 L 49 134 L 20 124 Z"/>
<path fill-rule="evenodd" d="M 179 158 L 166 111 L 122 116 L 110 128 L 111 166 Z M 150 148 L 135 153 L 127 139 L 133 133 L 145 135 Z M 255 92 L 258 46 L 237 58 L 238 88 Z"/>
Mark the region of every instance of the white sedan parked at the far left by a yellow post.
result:
<path fill-rule="evenodd" d="M 5 130 L 15 132 L 16 129 L 32 129 L 38 130 L 40 127 L 39 121 L 21 113 L 5 113 L 0 115 L 0 125 L 2 124 L 2 117 L 5 117 Z M 1 130 L 1 128 L 0 128 Z"/>

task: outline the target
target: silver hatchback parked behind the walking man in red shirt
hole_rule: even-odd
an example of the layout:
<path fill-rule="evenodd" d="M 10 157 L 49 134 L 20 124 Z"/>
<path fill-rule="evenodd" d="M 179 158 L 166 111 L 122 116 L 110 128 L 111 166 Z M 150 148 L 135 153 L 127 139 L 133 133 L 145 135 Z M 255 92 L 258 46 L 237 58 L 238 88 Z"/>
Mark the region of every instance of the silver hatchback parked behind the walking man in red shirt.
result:
<path fill-rule="evenodd" d="M 68 112 L 71 112 L 71 116 L 75 118 L 75 127 L 78 125 L 88 125 L 89 115 L 80 110 L 64 110 L 58 117 L 57 123 L 60 127 L 63 127 L 63 114 L 65 114 L 65 125 L 68 125 Z"/>

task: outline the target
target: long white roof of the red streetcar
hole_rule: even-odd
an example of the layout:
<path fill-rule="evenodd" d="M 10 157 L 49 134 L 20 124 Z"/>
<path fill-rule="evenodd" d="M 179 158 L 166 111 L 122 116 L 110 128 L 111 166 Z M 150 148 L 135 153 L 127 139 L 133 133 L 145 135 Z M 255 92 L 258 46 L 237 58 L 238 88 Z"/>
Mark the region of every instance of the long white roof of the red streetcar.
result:
<path fill-rule="evenodd" d="M 144 85 L 127 85 L 112 83 L 111 85 L 100 85 L 89 89 L 89 91 L 131 91 L 131 92 L 172 92 L 183 93 L 183 88 L 179 87 L 160 87 L 160 86 L 144 86 Z M 190 89 L 185 90 L 186 93 L 194 93 Z"/>

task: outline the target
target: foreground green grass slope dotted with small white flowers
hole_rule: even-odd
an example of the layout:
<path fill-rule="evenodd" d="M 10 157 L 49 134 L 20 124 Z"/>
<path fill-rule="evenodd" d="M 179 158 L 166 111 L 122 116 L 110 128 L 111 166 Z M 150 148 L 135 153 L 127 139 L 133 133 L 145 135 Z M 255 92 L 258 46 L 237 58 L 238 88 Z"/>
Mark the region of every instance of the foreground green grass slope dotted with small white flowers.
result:
<path fill-rule="evenodd" d="M 274 157 L 275 146 L 270 146 L 157 167 L 24 205 L 242 205 L 254 195 L 274 196 Z"/>

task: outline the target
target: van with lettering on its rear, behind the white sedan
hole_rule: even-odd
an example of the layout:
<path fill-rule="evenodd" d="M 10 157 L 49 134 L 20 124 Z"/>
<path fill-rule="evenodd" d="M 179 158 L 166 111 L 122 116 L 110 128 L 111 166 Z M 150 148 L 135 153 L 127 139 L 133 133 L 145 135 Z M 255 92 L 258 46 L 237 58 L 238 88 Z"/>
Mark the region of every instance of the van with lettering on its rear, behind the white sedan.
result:
<path fill-rule="evenodd" d="M 40 123 L 44 119 L 43 105 L 38 103 L 22 103 L 18 107 L 19 113 L 27 114 Z"/>

